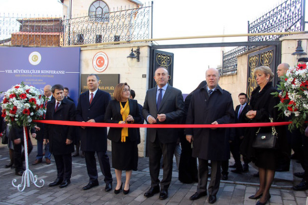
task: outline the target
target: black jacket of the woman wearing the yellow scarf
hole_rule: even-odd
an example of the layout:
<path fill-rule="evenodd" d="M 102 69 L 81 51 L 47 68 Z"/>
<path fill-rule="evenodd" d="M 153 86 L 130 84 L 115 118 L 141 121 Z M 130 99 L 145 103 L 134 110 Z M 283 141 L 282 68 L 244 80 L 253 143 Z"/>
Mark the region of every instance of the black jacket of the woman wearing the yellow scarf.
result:
<path fill-rule="evenodd" d="M 133 116 L 134 118 L 133 123 L 138 123 L 141 120 L 141 116 L 137 100 L 128 99 L 128 102 L 129 102 L 129 115 Z M 117 100 L 111 100 L 106 109 L 105 122 L 119 123 L 120 121 L 123 121 L 120 110 L 121 110 L 120 102 Z M 122 128 L 110 128 L 108 132 L 108 139 L 114 142 L 120 142 L 121 131 Z M 129 128 L 128 137 L 131 141 L 136 141 L 138 139 L 138 129 Z"/>

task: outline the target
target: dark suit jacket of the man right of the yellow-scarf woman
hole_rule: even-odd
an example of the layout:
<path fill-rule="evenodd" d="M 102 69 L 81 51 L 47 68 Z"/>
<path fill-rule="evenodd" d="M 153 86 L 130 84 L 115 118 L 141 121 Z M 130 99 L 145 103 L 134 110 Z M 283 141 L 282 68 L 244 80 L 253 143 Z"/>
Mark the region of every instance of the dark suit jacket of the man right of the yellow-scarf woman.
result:
<path fill-rule="evenodd" d="M 156 108 L 156 92 L 156 87 L 147 91 L 145 104 L 142 110 L 145 120 L 147 120 L 149 115 L 156 118 L 157 114 L 165 114 L 166 120 L 164 122 L 159 122 L 157 120 L 157 124 L 178 124 L 179 120 L 184 116 L 182 92 L 168 85 L 158 110 Z M 151 128 L 148 129 L 148 133 L 151 142 L 155 141 L 156 135 L 161 143 L 176 142 L 178 138 L 178 131 L 173 128 Z"/>

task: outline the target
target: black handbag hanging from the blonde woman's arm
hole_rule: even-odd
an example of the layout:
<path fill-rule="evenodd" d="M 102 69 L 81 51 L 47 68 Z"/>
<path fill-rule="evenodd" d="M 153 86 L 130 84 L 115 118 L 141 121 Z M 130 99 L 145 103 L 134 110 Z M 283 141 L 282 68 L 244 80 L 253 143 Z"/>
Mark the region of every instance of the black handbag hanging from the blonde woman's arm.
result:
<path fill-rule="evenodd" d="M 273 118 L 270 118 L 271 123 Z M 260 128 L 256 132 L 256 136 L 252 143 L 252 147 L 258 149 L 276 149 L 277 148 L 277 132 L 274 126 L 272 126 L 272 132 L 260 133 Z"/>

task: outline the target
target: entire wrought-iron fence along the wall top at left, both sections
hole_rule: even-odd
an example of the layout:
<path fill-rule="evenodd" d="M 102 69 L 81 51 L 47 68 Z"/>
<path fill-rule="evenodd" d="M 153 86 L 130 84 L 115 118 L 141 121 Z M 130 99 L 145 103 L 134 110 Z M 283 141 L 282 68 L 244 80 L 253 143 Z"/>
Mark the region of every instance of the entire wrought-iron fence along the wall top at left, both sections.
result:
<path fill-rule="evenodd" d="M 150 38 L 152 6 L 63 20 L 0 14 L 0 44 L 66 46 Z"/>

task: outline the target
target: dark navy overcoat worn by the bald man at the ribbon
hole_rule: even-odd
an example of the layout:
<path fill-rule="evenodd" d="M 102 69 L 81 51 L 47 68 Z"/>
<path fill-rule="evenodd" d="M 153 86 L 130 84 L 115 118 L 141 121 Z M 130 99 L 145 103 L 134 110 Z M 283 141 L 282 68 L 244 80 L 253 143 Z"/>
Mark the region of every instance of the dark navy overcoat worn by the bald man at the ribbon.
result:
<path fill-rule="evenodd" d="M 186 124 L 218 124 L 234 122 L 231 94 L 217 86 L 209 96 L 207 87 L 196 90 L 189 105 Z M 226 129 L 194 128 L 186 129 L 186 135 L 193 136 L 193 157 L 222 161 L 230 158 L 229 136 Z"/>

